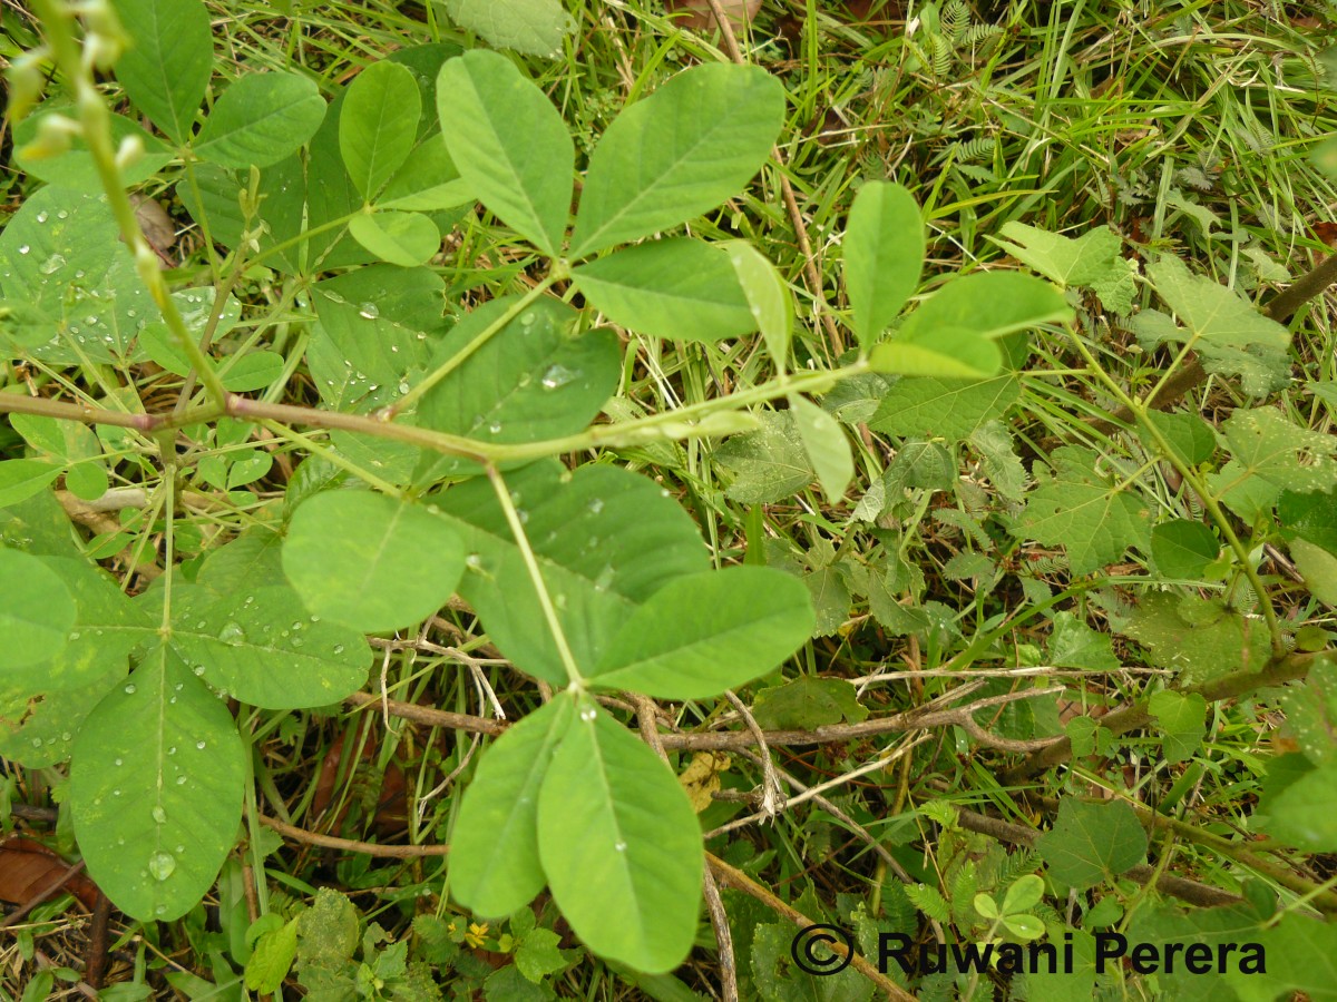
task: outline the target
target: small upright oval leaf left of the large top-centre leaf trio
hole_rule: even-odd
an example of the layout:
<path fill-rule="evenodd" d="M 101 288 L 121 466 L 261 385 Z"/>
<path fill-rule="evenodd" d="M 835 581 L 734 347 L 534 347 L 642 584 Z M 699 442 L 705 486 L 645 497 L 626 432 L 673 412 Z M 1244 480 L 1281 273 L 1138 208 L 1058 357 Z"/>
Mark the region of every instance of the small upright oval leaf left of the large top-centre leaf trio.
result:
<path fill-rule="evenodd" d="M 338 118 L 340 152 L 368 202 L 413 151 L 421 104 L 413 73 L 388 60 L 366 67 L 345 92 Z"/>

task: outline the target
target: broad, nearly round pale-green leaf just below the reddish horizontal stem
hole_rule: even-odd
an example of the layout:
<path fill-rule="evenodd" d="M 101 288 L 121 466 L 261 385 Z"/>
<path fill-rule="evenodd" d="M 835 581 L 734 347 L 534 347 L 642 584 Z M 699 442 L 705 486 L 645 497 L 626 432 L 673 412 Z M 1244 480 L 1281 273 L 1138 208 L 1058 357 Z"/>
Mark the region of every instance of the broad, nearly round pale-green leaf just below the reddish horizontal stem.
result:
<path fill-rule="evenodd" d="M 382 633 L 445 605 L 464 573 L 464 546 L 421 505 L 368 490 L 326 490 L 293 516 L 283 573 L 306 608 L 362 633 Z"/>

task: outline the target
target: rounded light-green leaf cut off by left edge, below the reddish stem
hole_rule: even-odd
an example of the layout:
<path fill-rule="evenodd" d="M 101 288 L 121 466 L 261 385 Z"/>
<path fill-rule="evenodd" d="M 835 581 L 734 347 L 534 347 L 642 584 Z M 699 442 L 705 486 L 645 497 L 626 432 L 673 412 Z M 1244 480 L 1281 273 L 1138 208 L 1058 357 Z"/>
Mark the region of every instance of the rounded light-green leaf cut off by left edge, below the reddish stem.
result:
<path fill-rule="evenodd" d="M 0 671 L 27 668 L 60 655 L 78 609 L 66 582 L 45 562 L 0 548 Z"/>

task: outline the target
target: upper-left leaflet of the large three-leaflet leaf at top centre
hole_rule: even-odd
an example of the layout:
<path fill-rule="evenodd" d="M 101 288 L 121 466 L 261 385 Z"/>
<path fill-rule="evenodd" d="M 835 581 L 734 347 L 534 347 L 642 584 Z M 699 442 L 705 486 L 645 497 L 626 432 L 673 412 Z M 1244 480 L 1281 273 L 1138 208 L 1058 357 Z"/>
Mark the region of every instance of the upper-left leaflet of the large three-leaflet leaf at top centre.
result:
<path fill-rule="evenodd" d="M 447 61 L 436 95 L 460 176 L 497 219 L 558 257 L 575 171 L 558 110 L 515 63 L 483 49 Z"/>

